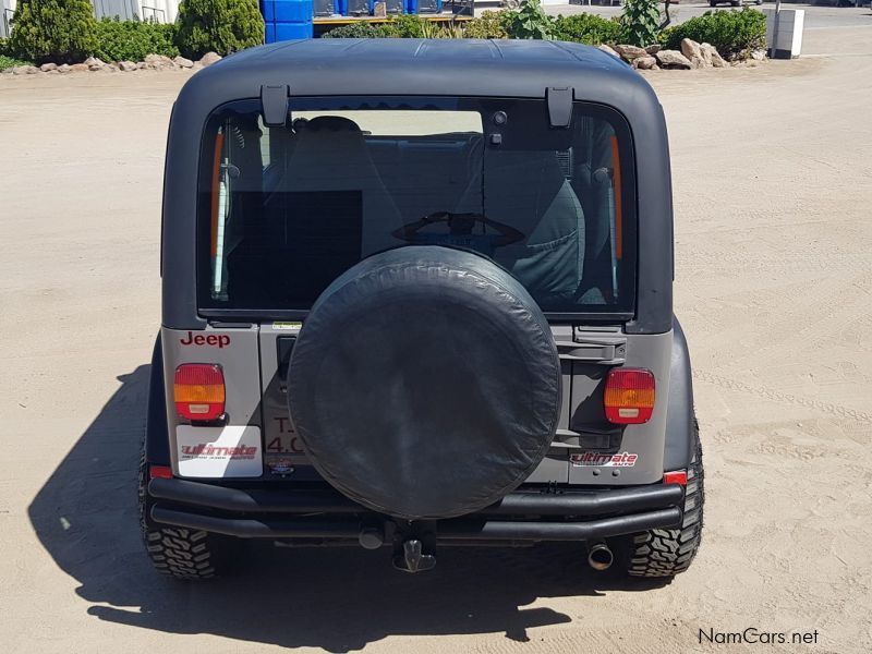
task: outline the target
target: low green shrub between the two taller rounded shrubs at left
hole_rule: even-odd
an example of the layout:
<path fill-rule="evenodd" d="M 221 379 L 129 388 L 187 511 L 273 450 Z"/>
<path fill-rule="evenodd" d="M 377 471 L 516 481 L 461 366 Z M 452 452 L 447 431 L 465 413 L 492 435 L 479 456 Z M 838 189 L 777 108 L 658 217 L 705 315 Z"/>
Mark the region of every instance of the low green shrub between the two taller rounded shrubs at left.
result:
<path fill-rule="evenodd" d="M 97 23 L 95 56 L 104 61 L 142 61 L 147 55 L 175 57 L 174 25 L 104 19 Z"/>

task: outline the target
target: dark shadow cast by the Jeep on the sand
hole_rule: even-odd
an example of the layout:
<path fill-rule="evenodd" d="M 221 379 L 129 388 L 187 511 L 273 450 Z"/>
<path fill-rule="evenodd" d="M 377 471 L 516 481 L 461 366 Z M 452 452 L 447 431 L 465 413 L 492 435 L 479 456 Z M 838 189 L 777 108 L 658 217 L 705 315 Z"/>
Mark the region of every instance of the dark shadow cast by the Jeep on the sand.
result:
<path fill-rule="evenodd" d="M 572 621 L 550 608 L 524 608 L 537 597 L 659 585 L 594 573 L 578 546 L 444 548 L 435 570 L 413 576 L 393 570 L 386 549 L 259 542 L 227 579 L 161 577 L 146 559 L 136 516 L 149 367 L 119 377 L 121 388 L 28 508 L 40 542 L 100 620 L 330 652 L 391 634 L 504 632 L 525 641 L 531 627 Z"/>

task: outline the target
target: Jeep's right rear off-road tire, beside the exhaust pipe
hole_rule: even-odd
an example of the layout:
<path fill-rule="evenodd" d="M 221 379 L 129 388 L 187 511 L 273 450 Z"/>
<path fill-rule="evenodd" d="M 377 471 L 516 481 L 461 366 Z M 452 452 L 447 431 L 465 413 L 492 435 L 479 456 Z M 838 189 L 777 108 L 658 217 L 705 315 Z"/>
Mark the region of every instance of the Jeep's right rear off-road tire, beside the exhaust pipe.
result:
<path fill-rule="evenodd" d="M 694 453 L 688 468 L 685 518 L 680 529 L 653 529 L 625 542 L 623 566 L 630 577 L 669 578 L 690 567 L 702 541 L 703 488 L 700 428 L 694 419 Z"/>

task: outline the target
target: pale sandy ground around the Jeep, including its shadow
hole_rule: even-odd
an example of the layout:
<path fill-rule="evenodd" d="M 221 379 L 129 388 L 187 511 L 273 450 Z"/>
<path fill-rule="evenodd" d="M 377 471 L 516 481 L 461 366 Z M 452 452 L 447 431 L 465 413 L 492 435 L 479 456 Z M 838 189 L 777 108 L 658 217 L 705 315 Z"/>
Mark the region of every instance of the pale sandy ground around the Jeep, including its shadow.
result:
<path fill-rule="evenodd" d="M 870 21 L 872 22 L 872 21 Z M 183 73 L 0 81 L 0 650 L 730 652 L 699 630 L 872 649 L 872 31 L 649 78 L 674 150 L 704 543 L 670 585 L 574 549 L 256 548 L 181 585 L 142 552 L 134 469 L 159 320 L 162 150 Z M 642 162 L 644 164 L 644 162 Z"/>

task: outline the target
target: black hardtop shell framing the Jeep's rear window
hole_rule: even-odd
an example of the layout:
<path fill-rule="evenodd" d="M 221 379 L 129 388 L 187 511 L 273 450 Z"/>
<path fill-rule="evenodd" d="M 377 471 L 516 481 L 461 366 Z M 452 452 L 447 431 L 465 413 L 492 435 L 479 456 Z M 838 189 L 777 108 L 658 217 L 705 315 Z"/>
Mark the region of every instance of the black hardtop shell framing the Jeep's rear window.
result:
<path fill-rule="evenodd" d="M 271 87 L 264 89 L 264 87 Z M 277 88 L 276 88 L 277 87 Z M 287 88 L 284 88 L 287 87 Z M 635 155 L 638 288 L 628 331 L 673 326 L 673 204 L 663 109 L 629 65 L 595 48 L 541 40 L 314 39 L 238 52 L 191 77 L 172 110 L 164 185 L 164 325 L 202 329 L 197 312 L 197 175 L 205 124 L 221 105 L 301 96 L 568 97 L 619 111 Z M 272 100 L 278 97 L 278 105 Z M 550 110 L 550 107 L 549 107 Z M 556 113 L 561 114 L 560 111 Z M 641 165 L 644 162 L 644 165 Z"/>

